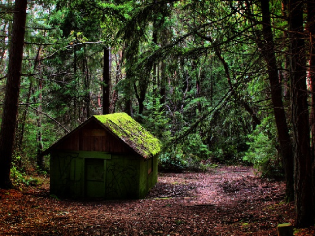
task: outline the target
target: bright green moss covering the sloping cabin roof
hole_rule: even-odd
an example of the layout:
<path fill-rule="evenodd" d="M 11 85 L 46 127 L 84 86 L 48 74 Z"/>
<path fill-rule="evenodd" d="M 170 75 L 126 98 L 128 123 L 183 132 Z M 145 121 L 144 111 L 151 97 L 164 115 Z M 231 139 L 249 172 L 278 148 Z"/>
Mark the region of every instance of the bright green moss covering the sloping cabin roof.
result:
<path fill-rule="evenodd" d="M 144 158 L 158 154 L 161 149 L 159 140 L 126 113 L 94 116 L 94 118 Z"/>

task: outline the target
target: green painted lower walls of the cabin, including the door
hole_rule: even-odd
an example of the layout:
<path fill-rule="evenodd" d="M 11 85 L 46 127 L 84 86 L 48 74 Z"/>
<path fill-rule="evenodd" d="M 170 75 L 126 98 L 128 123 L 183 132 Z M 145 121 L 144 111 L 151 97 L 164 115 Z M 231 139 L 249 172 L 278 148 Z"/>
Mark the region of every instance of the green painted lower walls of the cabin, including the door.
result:
<path fill-rule="evenodd" d="M 144 198 L 158 180 L 157 157 L 145 160 L 95 151 L 55 151 L 50 165 L 51 194 L 73 199 Z"/>

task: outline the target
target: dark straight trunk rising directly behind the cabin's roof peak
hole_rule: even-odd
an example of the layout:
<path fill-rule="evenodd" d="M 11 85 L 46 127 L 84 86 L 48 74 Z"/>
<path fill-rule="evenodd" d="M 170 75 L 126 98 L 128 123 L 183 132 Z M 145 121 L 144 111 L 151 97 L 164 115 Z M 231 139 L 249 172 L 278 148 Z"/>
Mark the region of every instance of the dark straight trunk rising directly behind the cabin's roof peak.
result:
<path fill-rule="evenodd" d="M 104 47 L 104 65 L 103 65 L 103 115 L 109 114 L 110 105 L 110 49 Z"/>

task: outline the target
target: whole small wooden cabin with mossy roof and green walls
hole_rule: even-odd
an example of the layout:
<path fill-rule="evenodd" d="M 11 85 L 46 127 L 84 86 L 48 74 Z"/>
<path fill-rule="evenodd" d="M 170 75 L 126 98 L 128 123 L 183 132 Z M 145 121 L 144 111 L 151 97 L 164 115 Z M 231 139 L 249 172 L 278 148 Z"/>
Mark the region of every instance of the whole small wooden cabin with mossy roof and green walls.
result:
<path fill-rule="evenodd" d="M 160 142 L 126 113 L 93 116 L 50 154 L 50 193 L 82 199 L 140 199 L 158 181 Z"/>

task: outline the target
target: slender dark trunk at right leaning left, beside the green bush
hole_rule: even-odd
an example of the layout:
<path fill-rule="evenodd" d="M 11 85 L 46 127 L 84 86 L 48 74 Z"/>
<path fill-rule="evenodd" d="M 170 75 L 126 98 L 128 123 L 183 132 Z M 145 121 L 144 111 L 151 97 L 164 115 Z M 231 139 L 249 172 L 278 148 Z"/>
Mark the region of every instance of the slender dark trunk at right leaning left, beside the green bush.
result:
<path fill-rule="evenodd" d="M 262 56 L 264 57 L 268 68 L 271 101 L 273 104 L 285 171 L 286 199 L 288 202 L 291 202 L 294 200 L 292 142 L 290 140 L 289 129 L 285 118 L 284 104 L 282 101 L 282 87 L 278 78 L 279 71 L 277 68 L 275 45 L 271 29 L 269 0 L 260 0 L 260 4 L 262 12 L 262 34 L 265 43 L 259 44 L 261 44 Z"/>

